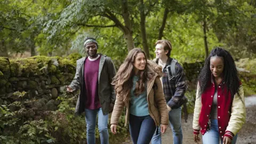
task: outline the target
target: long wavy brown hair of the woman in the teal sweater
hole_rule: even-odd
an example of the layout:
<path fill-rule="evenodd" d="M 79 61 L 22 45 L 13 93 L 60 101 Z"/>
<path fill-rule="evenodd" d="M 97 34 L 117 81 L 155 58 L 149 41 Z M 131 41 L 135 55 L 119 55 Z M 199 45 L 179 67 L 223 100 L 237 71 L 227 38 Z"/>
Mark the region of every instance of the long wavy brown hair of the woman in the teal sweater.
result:
<path fill-rule="evenodd" d="M 144 51 L 138 48 L 132 49 L 118 69 L 116 76 L 113 78 L 112 84 L 115 85 L 116 95 L 117 97 L 121 97 L 123 101 L 130 99 L 130 91 L 133 85 L 132 77 L 135 75 L 133 63 L 138 53 L 143 53 L 147 62 L 147 57 Z M 149 73 L 148 66 L 145 63 L 145 69 L 139 70 L 138 76 L 139 81 L 137 81 L 134 90 L 134 95 L 136 96 L 145 91 L 146 80 L 151 79 L 153 77 L 153 73 Z"/>

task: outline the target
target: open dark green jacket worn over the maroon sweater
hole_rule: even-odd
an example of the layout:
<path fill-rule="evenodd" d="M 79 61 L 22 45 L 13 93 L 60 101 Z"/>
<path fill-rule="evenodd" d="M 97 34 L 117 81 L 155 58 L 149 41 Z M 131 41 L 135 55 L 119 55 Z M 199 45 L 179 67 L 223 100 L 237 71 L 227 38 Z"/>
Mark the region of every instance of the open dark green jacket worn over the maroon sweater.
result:
<path fill-rule="evenodd" d="M 114 86 L 111 85 L 112 79 L 116 75 L 116 69 L 111 58 L 107 55 L 100 55 L 98 93 L 103 114 L 106 115 L 109 114 L 110 103 L 115 103 L 116 99 Z M 84 82 L 84 62 L 87 57 L 76 61 L 76 74 L 69 85 L 73 91 L 81 89 L 75 109 L 75 113 L 78 115 L 84 112 L 87 99 Z"/>

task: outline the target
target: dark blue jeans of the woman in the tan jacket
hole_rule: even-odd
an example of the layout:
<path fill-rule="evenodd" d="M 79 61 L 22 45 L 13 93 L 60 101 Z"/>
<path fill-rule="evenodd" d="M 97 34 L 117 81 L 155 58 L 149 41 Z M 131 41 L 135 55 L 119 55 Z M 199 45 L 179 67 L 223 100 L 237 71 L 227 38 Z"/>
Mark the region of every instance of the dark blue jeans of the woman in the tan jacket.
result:
<path fill-rule="evenodd" d="M 134 144 L 150 143 L 156 130 L 154 119 L 150 116 L 134 116 L 130 114 L 129 127 Z"/>

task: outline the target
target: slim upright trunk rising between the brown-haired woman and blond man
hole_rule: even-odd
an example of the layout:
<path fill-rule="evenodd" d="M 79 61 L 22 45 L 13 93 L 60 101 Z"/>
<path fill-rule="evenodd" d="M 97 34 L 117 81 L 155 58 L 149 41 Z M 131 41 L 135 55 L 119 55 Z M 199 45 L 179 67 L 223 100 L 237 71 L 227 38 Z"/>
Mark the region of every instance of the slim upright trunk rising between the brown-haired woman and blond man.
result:
<path fill-rule="evenodd" d="M 142 38 L 143 50 L 146 54 L 146 57 L 149 59 L 150 55 L 149 55 L 149 49 L 148 49 L 145 21 L 146 21 L 145 5 L 143 4 L 143 0 L 140 0 L 140 33 Z"/>

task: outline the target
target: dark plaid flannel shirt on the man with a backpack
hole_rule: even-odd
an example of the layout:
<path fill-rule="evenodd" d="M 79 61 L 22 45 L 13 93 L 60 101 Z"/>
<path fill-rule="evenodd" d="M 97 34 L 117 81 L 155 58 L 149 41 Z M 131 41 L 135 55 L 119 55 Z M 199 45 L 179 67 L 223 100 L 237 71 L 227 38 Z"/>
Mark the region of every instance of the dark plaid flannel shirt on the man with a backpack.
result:
<path fill-rule="evenodd" d="M 175 65 L 176 76 L 172 76 L 171 62 L 172 58 L 169 57 L 163 69 L 163 89 L 167 105 L 175 109 L 183 104 L 181 99 L 186 92 L 186 77 L 182 66 L 178 62 Z M 167 70 L 169 70 L 169 77 L 167 76 Z"/>

